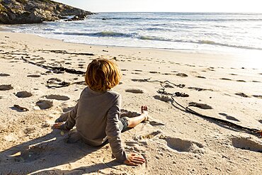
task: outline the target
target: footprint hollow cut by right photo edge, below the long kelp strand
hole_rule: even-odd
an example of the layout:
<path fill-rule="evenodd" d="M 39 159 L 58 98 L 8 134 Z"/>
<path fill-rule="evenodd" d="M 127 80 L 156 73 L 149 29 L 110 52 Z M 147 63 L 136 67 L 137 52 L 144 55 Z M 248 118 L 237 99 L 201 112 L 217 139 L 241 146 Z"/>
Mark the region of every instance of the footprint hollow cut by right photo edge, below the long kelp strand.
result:
<path fill-rule="evenodd" d="M 251 137 L 232 137 L 233 147 L 262 153 L 262 142 Z"/>

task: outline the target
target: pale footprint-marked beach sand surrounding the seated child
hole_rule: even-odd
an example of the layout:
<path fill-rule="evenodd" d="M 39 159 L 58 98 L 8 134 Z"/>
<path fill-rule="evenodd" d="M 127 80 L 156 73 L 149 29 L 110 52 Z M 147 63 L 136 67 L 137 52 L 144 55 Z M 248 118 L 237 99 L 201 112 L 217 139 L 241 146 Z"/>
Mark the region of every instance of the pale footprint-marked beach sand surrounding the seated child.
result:
<path fill-rule="evenodd" d="M 139 152 L 147 162 L 137 167 L 118 164 L 109 145 L 68 143 L 72 132 L 52 130 L 55 119 L 74 106 L 85 85 L 48 88 L 57 84 L 47 81 L 73 83 L 84 77 L 52 72 L 21 57 L 83 72 L 94 58 L 116 60 L 123 78 L 114 90 L 122 94 L 123 108 L 139 113 L 139 106 L 149 107 L 152 119 L 122 135 L 127 152 Z M 157 92 L 159 82 L 144 81 L 170 81 L 173 84 L 162 84 L 166 91 L 189 95 L 174 97 L 182 106 L 191 104 L 203 115 L 261 130 L 261 64 L 222 53 L 80 45 L 5 32 L 0 32 L 0 62 L 1 174 L 262 172 L 261 137 L 186 113 L 169 96 Z"/>

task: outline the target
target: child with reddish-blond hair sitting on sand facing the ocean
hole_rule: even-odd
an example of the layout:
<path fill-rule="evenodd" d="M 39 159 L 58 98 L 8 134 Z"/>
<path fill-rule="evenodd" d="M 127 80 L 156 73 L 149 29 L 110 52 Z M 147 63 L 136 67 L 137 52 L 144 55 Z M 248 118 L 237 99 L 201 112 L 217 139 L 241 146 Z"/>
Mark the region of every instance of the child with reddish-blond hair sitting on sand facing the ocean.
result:
<path fill-rule="evenodd" d="M 109 141 L 114 157 L 118 162 L 137 166 L 145 162 L 137 154 L 126 154 L 120 133 L 134 128 L 147 120 L 147 106 L 141 107 L 142 114 L 134 118 L 120 118 L 121 96 L 111 89 L 120 82 L 120 70 L 110 60 L 93 60 L 86 70 L 88 85 L 82 92 L 78 103 L 66 115 L 65 123 L 55 123 L 54 128 L 71 130 L 76 125 L 81 139 L 88 145 L 100 146 Z M 64 120 L 57 120 L 61 122 Z"/>

